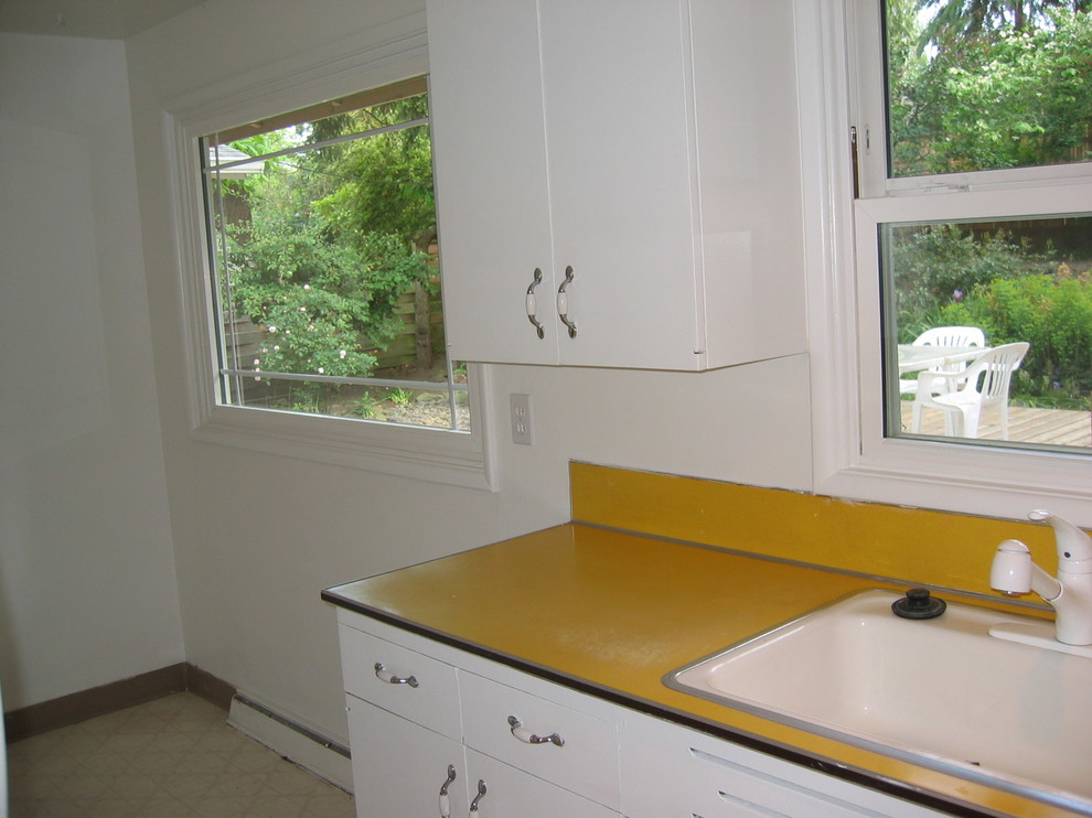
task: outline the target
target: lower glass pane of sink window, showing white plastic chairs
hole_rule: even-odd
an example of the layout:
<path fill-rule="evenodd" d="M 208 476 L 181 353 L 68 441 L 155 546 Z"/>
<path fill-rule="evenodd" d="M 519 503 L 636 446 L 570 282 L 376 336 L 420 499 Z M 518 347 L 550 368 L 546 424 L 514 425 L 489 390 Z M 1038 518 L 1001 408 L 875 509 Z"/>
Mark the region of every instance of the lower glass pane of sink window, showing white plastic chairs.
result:
<path fill-rule="evenodd" d="M 1092 445 L 1092 214 L 879 234 L 887 437 Z"/>

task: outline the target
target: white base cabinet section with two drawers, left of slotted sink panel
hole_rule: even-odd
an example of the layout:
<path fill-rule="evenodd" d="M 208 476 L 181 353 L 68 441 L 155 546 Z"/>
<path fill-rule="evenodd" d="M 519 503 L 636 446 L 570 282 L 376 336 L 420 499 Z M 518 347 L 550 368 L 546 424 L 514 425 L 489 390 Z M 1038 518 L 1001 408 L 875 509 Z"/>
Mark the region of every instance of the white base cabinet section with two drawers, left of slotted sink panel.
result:
<path fill-rule="evenodd" d="M 619 817 L 613 707 L 339 616 L 361 818 Z"/>

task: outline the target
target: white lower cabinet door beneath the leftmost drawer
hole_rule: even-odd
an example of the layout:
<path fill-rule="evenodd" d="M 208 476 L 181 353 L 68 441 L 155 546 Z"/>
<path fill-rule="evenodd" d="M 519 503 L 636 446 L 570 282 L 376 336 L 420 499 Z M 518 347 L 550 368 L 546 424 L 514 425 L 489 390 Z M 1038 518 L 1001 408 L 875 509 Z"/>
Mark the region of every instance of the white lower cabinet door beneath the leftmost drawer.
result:
<path fill-rule="evenodd" d="M 346 701 L 358 818 L 468 814 L 462 744 L 355 697 Z"/>

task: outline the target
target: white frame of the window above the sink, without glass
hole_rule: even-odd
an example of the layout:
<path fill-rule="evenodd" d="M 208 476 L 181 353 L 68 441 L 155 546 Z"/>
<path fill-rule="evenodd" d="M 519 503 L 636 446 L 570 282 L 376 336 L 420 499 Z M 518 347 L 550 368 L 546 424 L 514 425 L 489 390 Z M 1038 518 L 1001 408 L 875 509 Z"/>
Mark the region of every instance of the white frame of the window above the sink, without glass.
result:
<path fill-rule="evenodd" d="M 1057 171 L 1029 186 L 995 176 L 998 183 L 983 190 L 925 196 L 876 195 L 866 183 L 865 195 L 876 197 L 855 206 L 849 128 L 858 68 L 850 46 L 860 18 L 853 12 L 870 1 L 795 1 L 813 486 L 832 496 L 1000 518 L 1046 506 L 1092 526 L 1092 456 L 884 437 L 876 224 L 993 218 L 1039 206 L 1092 211 L 1092 185 L 1072 173 L 1045 177 Z"/>

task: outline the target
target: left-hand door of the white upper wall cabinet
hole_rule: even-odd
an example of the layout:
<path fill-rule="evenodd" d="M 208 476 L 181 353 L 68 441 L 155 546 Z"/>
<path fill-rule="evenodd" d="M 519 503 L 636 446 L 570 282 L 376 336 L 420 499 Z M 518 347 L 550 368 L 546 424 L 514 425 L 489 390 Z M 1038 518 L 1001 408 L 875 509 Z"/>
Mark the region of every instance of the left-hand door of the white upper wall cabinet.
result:
<path fill-rule="evenodd" d="M 429 0 L 429 92 L 448 357 L 557 363 L 534 0 Z M 544 337 L 527 319 L 534 291 Z"/>

